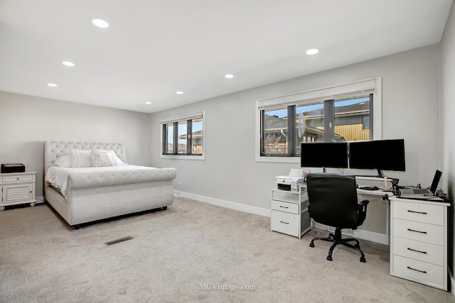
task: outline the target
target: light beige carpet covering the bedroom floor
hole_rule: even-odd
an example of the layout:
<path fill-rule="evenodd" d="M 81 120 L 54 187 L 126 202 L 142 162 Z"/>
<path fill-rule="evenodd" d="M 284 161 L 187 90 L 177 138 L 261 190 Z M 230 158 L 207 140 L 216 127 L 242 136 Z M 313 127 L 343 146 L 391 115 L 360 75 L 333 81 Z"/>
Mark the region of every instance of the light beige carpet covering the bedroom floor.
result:
<path fill-rule="evenodd" d="M 455 302 L 389 275 L 389 251 L 270 231 L 267 217 L 176 198 L 72 230 L 44 204 L 0 212 L 0 302 Z M 134 239 L 106 246 L 105 242 Z M 247 289 L 244 289 L 247 288 Z"/>

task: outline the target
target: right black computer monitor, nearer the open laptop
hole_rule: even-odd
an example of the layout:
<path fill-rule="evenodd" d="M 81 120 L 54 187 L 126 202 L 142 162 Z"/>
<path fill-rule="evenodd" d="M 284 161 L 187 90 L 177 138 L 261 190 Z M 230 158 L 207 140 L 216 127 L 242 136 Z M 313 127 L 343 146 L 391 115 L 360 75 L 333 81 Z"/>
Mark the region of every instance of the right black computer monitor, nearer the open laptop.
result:
<path fill-rule="evenodd" d="M 352 141 L 349 167 L 378 170 L 377 177 L 384 177 L 382 170 L 405 172 L 405 140 Z"/>

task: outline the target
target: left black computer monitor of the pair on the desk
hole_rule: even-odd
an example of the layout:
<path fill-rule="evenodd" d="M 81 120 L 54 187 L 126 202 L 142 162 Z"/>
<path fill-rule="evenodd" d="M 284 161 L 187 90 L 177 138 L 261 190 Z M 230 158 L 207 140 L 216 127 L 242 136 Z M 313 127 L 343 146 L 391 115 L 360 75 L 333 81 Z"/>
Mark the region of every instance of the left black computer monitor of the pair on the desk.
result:
<path fill-rule="evenodd" d="M 348 168 L 348 143 L 303 142 L 300 144 L 301 167 Z"/>

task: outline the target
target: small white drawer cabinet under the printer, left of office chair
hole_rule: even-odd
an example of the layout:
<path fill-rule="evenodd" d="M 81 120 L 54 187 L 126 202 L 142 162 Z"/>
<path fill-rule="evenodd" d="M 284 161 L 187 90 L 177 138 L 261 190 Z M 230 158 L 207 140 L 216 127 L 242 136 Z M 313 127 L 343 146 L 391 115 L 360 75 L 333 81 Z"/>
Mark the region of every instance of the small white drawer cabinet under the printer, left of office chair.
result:
<path fill-rule="evenodd" d="M 272 189 L 270 230 L 301 238 L 310 229 L 306 187 L 299 186 L 298 192 Z"/>

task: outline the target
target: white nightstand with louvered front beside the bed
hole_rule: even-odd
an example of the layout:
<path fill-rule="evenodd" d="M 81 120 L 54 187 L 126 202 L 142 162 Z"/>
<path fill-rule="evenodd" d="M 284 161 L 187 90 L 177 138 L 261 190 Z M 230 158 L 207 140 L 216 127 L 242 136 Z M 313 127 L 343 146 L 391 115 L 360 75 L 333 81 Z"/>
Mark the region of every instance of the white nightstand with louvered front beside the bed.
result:
<path fill-rule="evenodd" d="M 30 203 L 30 206 L 35 206 L 36 174 L 37 172 L 0 174 L 0 211 L 9 205 Z"/>

